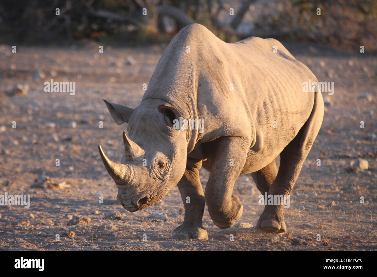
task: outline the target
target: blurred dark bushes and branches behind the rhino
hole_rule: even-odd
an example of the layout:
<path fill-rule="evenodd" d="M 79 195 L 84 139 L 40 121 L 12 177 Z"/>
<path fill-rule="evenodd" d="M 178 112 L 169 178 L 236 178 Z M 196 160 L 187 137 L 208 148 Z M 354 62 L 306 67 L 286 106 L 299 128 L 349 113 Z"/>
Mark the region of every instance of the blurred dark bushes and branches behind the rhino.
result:
<path fill-rule="evenodd" d="M 251 16 L 254 5 L 260 10 Z M 377 0 L 239 0 L 231 8 L 234 16 L 229 17 L 230 5 L 222 0 L 2 0 L 0 43 L 168 42 L 181 28 L 198 22 L 227 42 L 285 37 L 343 49 L 363 45 L 377 52 Z"/>

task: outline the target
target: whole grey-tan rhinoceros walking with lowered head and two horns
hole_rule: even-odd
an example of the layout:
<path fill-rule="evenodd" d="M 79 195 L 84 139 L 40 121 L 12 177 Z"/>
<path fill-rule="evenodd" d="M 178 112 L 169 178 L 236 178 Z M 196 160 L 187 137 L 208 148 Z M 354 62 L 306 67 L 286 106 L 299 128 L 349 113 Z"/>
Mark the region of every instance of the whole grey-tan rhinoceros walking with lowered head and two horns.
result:
<path fill-rule="evenodd" d="M 172 238 L 207 239 L 205 204 L 219 228 L 242 216 L 232 194 L 240 174 L 251 173 L 262 195 L 289 195 L 323 119 L 320 91 L 303 91 L 309 80 L 317 82 L 275 39 L 225 43 L 200 24 L 186 26 L 162 54 L 139 106 L 104 100 L 116 124 L 128 123 L 120 164 L 98 146 L 118 201 L 135 212 L 178 185 L 185 214 Z M 205 192 L 201 167 L 210 171 Z M 285 232 L 283 204 L 265 205 L 256 228 Z"/>

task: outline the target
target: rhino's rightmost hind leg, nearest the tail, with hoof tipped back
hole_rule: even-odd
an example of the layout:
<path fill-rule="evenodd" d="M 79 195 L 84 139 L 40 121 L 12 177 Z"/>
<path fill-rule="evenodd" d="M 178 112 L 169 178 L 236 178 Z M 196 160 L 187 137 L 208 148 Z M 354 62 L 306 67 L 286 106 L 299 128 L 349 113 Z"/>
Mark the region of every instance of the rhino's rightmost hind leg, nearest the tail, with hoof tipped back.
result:
<path fill-rule="evenodd" d="M 313 145 L 323 119 L 323 99 L 316 92 L 313 110 L 296 137 L 280 153 L 280 166 L 277 176 L 268 194 L 272 196 L 288 196 L 296 182 L 302 164 Z M 276 203 L 274 203 L 276 204 Z M 287 227 L 283 216 L 284 204 L 266 205 L 257 222 L 257 228 L 268 233 L 284 233 Z"/>

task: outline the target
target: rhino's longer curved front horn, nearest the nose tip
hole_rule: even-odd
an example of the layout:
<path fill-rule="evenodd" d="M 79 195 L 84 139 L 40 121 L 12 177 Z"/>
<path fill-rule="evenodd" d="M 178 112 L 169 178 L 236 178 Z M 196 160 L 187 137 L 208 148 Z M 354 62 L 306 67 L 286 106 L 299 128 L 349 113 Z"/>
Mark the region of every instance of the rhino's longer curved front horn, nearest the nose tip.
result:
<path fill-rule="evenodd" d="M 103 164 L 106 167 L 107 172 L 109 172 L 111 178 L 115 181 L 117 185 L 128 185 L 133 178 L 133 169 L 128 164 L 117 164 L 113 161 L 110 161 L 109 158 L 103 153 L 101 145 L 98 145 L 98 150 L 103 161 Z"/>

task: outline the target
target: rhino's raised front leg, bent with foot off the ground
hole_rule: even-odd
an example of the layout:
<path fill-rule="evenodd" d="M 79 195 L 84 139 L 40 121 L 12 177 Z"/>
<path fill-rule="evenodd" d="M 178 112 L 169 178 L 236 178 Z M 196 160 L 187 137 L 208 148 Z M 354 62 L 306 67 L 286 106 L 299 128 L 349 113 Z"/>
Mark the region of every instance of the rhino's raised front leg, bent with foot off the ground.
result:
<path fill-rule="evenodd" d="M 213 223 L 222 229 L 230 228 L 242 216 L 243 206 L 232 191 L 245 165 L 247 145 L 241 137 L 222 137 L 207 148 L 211 174 L 205 187 L 205 202 Z"/>

